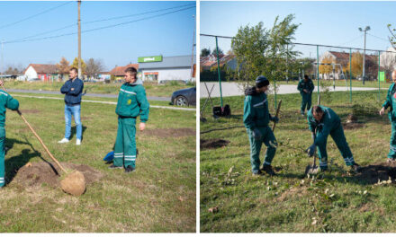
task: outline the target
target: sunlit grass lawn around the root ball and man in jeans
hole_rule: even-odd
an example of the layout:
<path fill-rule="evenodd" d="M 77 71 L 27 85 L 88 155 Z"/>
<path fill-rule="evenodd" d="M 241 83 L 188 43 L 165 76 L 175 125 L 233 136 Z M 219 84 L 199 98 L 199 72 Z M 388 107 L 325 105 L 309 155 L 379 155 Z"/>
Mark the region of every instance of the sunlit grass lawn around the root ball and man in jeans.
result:
<path fill-rule="evenodd" d="M 58 140 L 64 136 L 64 102 L 15 98 L 59 162 L 88 165 L 103 178 L 87 185 L 80 197 L 46 183 L 23 186 L 16 179 L 23 165 L 42 162 L 40 157 L 51 160 L 22 118 L 7 111 L 5 145 L 10 150 L 5 155 L 8 184 L 0 190 L 0 232 L 195 232 L 193 111 L 151 109 L 147 130 L 137 132 L 137 170 L 126 174 L 108 169 L 103 162 L 115 142 L 115 105 L 83 102 L 82 145 L 75 145 L 76 135 L 70 143 L 59 145 Z M 75 131 L 74 122 L 72 126 Z"/>

